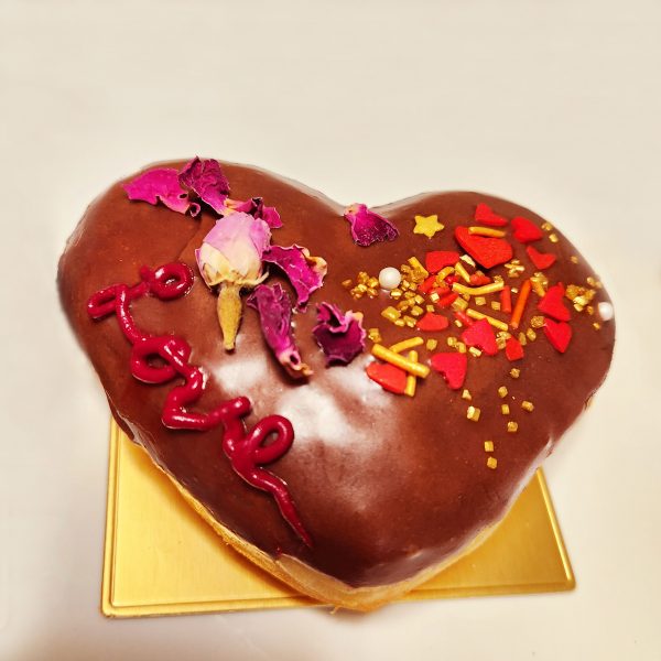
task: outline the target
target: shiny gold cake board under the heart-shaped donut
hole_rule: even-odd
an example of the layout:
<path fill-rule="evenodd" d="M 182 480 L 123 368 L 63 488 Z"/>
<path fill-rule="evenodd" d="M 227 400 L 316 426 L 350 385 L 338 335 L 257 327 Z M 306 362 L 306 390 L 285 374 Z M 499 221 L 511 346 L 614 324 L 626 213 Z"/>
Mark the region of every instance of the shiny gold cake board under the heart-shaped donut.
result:
<path fill-rule="evenodd" d="M 487 541 L 402 600 L 567 590 L 574 575 L 538 470 Z M 110 427 L 101 610 L 108 617 L 318 606 L 236 553 Z"/>

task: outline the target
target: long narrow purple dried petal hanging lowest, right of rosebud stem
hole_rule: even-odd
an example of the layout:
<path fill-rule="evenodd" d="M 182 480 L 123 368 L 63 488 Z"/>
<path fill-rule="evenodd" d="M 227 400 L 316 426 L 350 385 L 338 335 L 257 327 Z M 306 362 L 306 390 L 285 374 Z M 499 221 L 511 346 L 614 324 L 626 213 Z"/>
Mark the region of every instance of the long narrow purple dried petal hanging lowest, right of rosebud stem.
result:
<path fill-rule="evenodd" d="M 280 284 L 260 284 L 247 300 L 259 313 L 262 334 L 278 361 L 295 378 L 307 377 L 312 370 L 301 360 L 292 332 L 292 301 Z"/>

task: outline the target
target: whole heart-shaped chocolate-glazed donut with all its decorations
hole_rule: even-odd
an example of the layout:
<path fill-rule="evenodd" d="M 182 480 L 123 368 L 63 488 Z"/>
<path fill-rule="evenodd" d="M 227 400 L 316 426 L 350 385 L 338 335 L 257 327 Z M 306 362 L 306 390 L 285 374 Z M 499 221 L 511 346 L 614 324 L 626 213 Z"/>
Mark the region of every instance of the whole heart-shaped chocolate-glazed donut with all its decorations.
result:
<path fill-rule="evenodd" d="M 273 575 L 357 609 L 485 539 L 615 338 L 585 259 L 517 204 L 345 208 L 213 160 L 111 186 L 58 284 L 116 420 L 195 509 Z"/>

